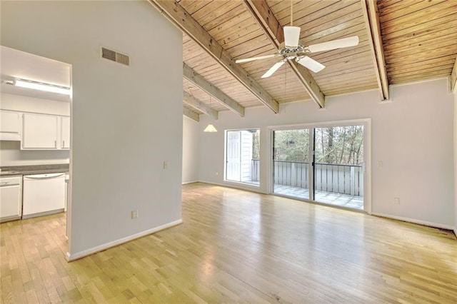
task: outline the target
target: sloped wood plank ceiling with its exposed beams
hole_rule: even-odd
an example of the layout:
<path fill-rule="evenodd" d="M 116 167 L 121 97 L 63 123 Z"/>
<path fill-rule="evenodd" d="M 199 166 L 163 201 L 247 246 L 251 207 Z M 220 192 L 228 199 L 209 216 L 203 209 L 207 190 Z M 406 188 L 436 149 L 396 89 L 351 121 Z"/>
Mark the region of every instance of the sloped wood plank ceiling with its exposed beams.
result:
<path fill-rule="evenodd" d="M 291 1 L 149 0 L 183 31 L 184 111 L 217 118 L 244 116 L 244 108 L 315 101 L 325 96 L 448 77 L 456 83 L 457 1 L 292 0 L 301 45 L 358 36 L 358 46 L 317 52 L 325 69 L 313 73 L 295 62 L 261 78 L 278 59 L 236 64 L 236 59 L 275 54 L 290 25 Z M 311 84 L 310 84 L 311 83 Z M 191 101 L 189 101 L 191 99 Z M 312 102 L 309 101 L 309 102 Z"/>

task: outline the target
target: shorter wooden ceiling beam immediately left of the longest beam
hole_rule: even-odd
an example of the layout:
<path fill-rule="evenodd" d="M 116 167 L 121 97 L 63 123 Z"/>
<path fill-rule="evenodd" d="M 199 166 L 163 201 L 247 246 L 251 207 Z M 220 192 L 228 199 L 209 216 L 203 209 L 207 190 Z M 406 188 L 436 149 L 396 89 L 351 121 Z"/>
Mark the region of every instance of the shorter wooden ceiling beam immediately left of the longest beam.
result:
<path fill-rule="evenodd" d="M 187 64 L 183 64 L 183 76 L 201 88 L 209 95 L 213 96 L 217 101 L 229 108 L 231 111 L 237 113 L 239 116 L 244 116 L 244 107 L 238 102 L 234 101 L 230 96 L 207 81 L 203 76 L 191 69 Z"/>

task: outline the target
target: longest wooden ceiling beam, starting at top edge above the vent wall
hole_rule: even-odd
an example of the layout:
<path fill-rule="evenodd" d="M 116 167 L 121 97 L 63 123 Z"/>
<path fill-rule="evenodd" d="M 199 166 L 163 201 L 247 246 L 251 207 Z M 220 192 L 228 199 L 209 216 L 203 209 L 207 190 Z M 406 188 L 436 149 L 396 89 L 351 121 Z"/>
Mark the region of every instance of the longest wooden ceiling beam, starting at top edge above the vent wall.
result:
<path fill-rule="evenodd" d="M 235 60 L 229 53 L 178 2 L 169 0 L 149 0 L 149 2 L 181 31 L 194 39 L 221 66 L 224 66 L 224 69 L 251 91 L 259 101 L 271 108 L 273 112 L 278 113 L 278 101 L 249 76 L 239 64 L 235 64 Z"/>

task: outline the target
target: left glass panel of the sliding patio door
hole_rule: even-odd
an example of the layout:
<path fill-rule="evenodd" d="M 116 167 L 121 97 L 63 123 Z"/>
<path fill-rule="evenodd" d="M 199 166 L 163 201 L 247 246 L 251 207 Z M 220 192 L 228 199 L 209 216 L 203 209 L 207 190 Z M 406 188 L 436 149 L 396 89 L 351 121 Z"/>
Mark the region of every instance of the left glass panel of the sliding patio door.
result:
<path fill-rule="evenodd" d="M 273 131 L 273 193 L 309 199 L 309 129 Z"/>

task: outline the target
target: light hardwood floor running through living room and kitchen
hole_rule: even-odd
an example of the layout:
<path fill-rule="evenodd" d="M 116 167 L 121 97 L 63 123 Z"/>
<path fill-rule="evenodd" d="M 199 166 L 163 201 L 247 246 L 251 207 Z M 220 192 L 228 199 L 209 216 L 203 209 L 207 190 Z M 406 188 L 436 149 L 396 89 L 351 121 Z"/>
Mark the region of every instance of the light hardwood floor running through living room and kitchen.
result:
<path fill-rule="evenodd" d="M 71 263 L 64 214 L 1 224 L 1 301 L 457 303 L 449 231 L 204 183 L 183 221 Z"/>

